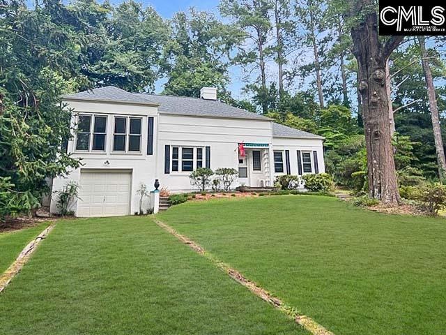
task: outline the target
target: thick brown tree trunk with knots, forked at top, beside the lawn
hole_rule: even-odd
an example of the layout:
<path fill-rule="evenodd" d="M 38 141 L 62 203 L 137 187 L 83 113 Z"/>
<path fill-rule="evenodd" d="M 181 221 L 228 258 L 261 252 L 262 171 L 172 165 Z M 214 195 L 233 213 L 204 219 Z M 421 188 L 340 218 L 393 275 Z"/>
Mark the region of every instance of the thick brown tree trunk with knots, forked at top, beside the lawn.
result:
<path fill-rule="evenodd" d="M 357 0 L 353 15 L 362 13 L 364 7 L 370 5 L 371 0 Z M 400 196 L 390 137 L 385 63 L 403 36 L 392 36 L 384 46 L 381 45 L 376 13 L 364 11 L 362 22 L 351 29 L 351 36 L 360 77 L 369 195 L 387 204 L 398 204 Z"/>

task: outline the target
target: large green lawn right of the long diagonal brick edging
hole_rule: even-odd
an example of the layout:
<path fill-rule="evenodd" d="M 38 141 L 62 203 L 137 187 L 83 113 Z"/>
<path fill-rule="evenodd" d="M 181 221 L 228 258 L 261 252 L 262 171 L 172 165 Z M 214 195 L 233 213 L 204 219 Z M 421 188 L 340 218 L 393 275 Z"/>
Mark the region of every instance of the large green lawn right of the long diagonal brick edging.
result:
<path fill-rule="evenodd" d="M 444 218 L 305 195 L 190 202 L 157 217 L 334 334 L 446 334 Z"/>

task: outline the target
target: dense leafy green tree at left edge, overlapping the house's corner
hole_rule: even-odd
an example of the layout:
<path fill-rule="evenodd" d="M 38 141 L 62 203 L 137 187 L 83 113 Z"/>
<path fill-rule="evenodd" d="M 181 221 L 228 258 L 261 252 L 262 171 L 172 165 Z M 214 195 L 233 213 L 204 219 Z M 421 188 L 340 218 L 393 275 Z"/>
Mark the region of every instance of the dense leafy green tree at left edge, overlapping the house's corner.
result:
<path fill-rule="evenodd" d="M 70 112 L 58 97 L 77 86 L 79 50 L 72 31 L 52 17 L 58 6 L 49 0 L 35 10 L 22 1 L 0 6 L 0 178 L 11 197 L 3 217 L 38 207 L 47 178 L 79 165 L 61 148 L 70 137 Z"/>

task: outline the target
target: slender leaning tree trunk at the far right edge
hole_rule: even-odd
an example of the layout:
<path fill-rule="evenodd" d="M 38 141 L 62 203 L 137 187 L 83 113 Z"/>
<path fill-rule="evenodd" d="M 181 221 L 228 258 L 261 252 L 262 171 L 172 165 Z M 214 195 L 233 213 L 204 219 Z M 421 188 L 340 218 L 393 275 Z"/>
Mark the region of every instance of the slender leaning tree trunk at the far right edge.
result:
<path fill-rule="evenodd" d="M 440 179 L 446 178 L 445 150 L 443 149 L 443 138 L 441 137 L 440 116 L 438 114 L 437 98 L 435 87 L 433 86 L 433 77 L 431 67 L 429 66 L 428 54 L 426 51 L 426 40 L 424 36 L 418 36 L 421 50 L 421 61 L 423 65 L 424 78 L 426 79 L 427 96 L 429 97 L 429 107 L 431 107 L 431 119 L 433 129 L 433 139 L 437 151 L 438 175 Z"/>

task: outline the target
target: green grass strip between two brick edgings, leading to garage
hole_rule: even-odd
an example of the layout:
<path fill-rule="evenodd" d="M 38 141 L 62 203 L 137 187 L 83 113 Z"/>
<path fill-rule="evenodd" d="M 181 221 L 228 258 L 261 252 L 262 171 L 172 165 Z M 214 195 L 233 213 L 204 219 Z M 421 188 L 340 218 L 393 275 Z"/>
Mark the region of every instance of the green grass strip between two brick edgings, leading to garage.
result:
<path fill-rule="evenodd" d="M 147 217 L 60 221 L 0 295 L 0 334 L 307 334 Z"/>

